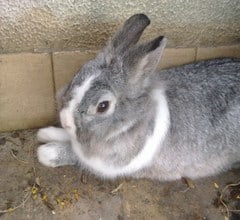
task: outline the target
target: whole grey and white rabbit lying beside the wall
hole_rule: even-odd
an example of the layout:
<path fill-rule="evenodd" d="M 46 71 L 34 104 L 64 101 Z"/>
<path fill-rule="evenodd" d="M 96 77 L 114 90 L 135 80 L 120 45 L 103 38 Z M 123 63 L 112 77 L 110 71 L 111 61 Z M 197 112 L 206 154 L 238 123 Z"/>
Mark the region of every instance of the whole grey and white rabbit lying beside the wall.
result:
<path fill-rule="evenodd" d="M 167 39 L 137 43 L 149 24 L 144 14 L 130 17 L 61 91 L 62 128 L 38 131 L 40 163 L 173 181 L 240 161 L 240 60 L 156 71 Z"/>

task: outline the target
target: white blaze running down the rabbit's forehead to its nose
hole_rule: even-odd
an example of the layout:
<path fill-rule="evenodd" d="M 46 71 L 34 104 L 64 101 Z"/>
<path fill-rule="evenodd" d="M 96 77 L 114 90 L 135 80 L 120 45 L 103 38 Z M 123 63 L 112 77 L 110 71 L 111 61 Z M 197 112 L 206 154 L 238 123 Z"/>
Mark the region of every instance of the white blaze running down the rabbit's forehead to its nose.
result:
<path fill-rule="evenodd" d="M 92 75 L 89 78 L 85 79 L 81 86 L 76 86 L 72 92 L 72 100 L 68 103 L 67 107 L 63 108 L 60 112 L 60 120 L 62 127 L 66 129 L 66 131 L 72 137 L 76 136 L 76 126 L 74 124 L 74 110 L 76 106 L 81 103 L 85 93 L 91 87 L 92 81 L 97 77 L 98 75 Z"/>

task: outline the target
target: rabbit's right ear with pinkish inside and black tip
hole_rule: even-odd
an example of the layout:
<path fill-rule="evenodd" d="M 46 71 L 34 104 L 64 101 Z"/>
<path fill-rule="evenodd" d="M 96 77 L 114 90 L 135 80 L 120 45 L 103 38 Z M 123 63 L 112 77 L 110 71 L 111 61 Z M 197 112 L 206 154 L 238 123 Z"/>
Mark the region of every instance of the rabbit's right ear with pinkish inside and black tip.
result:
<path fill-rule="evenodd" d="M 125 70 L 129 72 L 132 82 L 138 81 L 143 75 L 149 75 L 155 71 L 167 39 L 163 36 L 133 48 L 124 56 Z"/>

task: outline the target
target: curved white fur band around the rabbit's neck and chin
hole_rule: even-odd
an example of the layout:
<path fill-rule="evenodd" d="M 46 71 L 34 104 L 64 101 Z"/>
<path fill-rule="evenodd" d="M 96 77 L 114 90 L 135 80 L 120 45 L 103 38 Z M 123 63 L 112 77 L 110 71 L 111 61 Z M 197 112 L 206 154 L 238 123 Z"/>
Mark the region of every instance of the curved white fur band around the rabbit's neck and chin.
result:
<path fill-rule="evenodd" d="M 165 139 L 170 125 L 170 114 L 164 91 L 155 90 L 152 95 L 153 99 L 157 102 L 154 130 L 152 135 L 147 137 L 143 149 L 130 161 L 129 164 L 123 167 L 116 167 L 109 165 L 107 161 L 103 161 L 101 158 L 85 158 L 81 151 L 80 144 L 76 139 L 72 139 L 73 149 L 79 156 L 80 160 L 88 167 L 109 178 L 114 178 L 120 175 L 129 175 L 148 166 L 152 162 L 157 151 L 161 148 L 161 144 Z"/>

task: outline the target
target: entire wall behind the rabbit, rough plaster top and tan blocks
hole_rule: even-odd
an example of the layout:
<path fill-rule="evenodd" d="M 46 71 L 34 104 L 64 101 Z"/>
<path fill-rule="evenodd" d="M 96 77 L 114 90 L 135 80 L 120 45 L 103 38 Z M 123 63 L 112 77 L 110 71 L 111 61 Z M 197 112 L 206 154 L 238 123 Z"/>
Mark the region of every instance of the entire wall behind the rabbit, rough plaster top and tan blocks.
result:
<path fill-rule="evenodd" d="M 0 131 L 56 120 L 55 93 L 135 13 L 168 38 L 160 68 L 240 57 L 239 0 L 0 0 Z"/>

